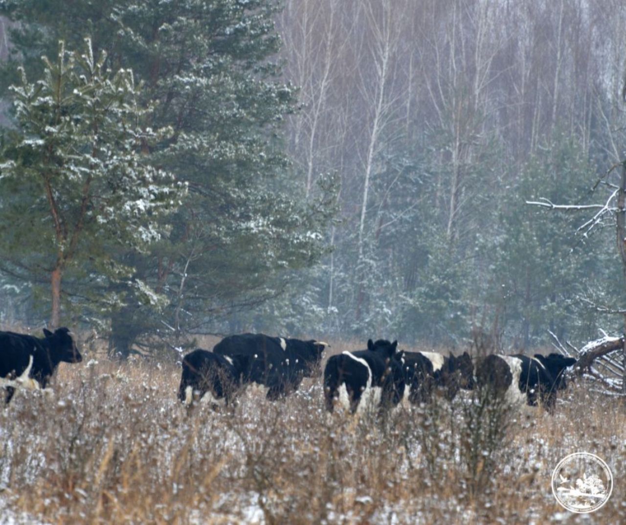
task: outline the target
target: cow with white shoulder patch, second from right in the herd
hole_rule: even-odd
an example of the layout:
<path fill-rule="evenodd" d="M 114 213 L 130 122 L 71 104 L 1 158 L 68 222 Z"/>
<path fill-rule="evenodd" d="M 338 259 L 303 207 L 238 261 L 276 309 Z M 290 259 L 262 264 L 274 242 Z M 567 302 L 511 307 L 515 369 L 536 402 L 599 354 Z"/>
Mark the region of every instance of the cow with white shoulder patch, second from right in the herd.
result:
<path fill-rule="evenodd" d="M 474 388 L 474 366 L 471 356 L 448 356 L 436 352 L 399 351 L 395 356 L 402 366 L 407 390 L 405 398 L 411 403 L 428 403 L 433 388 L 442 390 L 453 400 L 461 388 Z"/>

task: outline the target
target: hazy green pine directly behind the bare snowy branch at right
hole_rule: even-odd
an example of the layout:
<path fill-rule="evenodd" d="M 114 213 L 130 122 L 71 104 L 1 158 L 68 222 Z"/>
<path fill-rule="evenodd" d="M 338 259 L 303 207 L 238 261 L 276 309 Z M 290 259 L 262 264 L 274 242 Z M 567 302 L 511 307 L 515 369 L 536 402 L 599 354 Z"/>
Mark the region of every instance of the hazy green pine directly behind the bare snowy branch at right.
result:
<path fill-rule="evenodd" d="M 526 204 L 542 198 L 583 204 L 590 195 L 590 172 L 592 166 L 577 142 L 555 134 L 552 147 L 529 160 L 503 197 L 493 275 L 506 307 L 508 336 L 515 346 L 537 345 L 545 341 L 548 330 L 561 340 L 584 338 L 593 331 L 598 314 L 582 299 L 613 288 L 598 286 L 598 281 L 613 282 L 607 275 L 611 254 L 602 248 L 607 231 L 577 241 L 563 236 L 579 226 L 575 214 L 563 213 L 546 221 L 545 209 Z"/>

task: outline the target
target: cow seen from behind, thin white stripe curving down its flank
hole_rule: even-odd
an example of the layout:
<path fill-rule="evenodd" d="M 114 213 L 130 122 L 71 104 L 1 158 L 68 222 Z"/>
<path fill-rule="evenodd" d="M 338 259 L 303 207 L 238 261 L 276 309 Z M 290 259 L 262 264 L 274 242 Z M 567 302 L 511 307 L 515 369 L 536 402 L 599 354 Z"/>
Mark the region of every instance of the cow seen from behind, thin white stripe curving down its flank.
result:
<path fill-rule="evenodd" d="M 339 402 L 351 413 L 395 407 L 404 395 L 404 375 L 394 359 L 398 341 L 367 341 L 367 350 L 331 356 L 324 368 L 324 400 L 333 412 Z"/>

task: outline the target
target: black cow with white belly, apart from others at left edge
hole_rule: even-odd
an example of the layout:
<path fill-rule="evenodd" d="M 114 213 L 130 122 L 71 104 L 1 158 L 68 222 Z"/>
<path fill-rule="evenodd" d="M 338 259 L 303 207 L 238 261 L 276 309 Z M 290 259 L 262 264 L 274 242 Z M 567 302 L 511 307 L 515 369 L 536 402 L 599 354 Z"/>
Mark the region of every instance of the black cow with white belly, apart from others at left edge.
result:
<path fill-rule="evenodd" d="M 6 388 L 8 404 L 16 388 L 46 388 L 61 361 L 80 363 L 83 357 L 68 328 L 44 338 L 14 332 L 0 332 L 0 387 Z"/>

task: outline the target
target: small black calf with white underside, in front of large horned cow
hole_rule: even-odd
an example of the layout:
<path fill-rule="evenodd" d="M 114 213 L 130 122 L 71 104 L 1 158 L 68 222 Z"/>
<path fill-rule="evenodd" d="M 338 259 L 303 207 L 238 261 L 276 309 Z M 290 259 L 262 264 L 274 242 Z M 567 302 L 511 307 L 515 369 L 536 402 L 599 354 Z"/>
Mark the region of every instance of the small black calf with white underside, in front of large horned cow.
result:
<path fill-rule="evenodd" d="M 249 358 L 228 357 L 198 348 L 183 358 L 178 399 L 187 407 L 208 400 L 212 407 L 229 405 L 249 373 Z M 205 394 L 207 394 L 205 397 Z"/>

